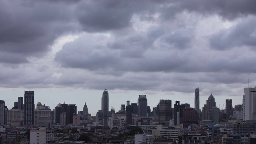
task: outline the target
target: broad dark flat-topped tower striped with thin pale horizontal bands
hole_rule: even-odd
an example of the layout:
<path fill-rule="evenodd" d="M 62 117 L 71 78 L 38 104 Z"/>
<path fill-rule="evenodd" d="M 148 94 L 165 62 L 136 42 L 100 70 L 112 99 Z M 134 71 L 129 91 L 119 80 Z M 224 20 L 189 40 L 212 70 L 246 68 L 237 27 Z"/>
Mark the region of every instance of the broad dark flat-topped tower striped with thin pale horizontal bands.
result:
<path fill-rule="evenodd" d="M 172 100 L 160 100 L 158 122 L 168 122 L 172 120 Z"/>

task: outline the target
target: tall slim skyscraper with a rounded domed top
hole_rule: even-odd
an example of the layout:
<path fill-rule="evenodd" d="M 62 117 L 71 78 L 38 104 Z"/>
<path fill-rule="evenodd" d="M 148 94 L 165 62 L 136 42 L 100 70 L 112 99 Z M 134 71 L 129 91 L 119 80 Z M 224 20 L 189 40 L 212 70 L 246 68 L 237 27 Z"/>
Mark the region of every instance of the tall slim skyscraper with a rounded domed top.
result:
<path fill-rule="evenodd" d="M 105 89 L 101 98 L 101 110 L 103 112 L 103 126 L 108 126 L 108 90 Z"/>

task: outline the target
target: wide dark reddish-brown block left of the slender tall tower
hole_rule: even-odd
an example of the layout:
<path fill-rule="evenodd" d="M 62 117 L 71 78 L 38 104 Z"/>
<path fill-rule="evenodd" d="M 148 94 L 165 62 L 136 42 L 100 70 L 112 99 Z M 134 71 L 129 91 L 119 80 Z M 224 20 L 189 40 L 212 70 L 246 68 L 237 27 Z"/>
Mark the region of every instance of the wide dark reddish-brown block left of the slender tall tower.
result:
<path fill-rule="evenodd" d="M 191 124 L 198 125 L 198 113 L 194 108 L 184 108 L 182 117 L 183 128 L 188 128 Z"/>

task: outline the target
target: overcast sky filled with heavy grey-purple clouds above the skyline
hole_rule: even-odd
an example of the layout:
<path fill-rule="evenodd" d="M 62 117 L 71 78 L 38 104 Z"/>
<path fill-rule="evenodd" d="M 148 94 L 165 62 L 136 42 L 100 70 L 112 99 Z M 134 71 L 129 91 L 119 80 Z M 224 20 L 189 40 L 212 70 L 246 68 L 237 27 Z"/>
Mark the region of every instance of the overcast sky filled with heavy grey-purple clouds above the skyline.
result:
<path fill-rule="evenodd" d="M 242 104 L 256 85 L 254 0 L 0 1 L 0 99 L 10 109 L 24 90 L 35 104 L 109 106 L 160 99 L 190 103 L 200 88 L 216 106 Z M 248 81 L 249 80 L 249 81 Z"/>

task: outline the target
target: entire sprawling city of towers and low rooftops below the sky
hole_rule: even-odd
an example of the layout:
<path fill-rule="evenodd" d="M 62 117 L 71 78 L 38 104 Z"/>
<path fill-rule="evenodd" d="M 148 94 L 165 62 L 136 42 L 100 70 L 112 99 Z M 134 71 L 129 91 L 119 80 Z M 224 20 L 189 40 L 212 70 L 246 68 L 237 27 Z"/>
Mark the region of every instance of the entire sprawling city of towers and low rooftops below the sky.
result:
<path fill-rule="evenodd" d="M 126 100 L 126 104 L 121 104 L 121 109 L 116 111 L 110 108 L 109 93 L 105 89 L 101 109 L 92 116 L 86 102 L 82 110 L 78 110 L 76 104 L 66 102 L 51 110 L 41 102 L 35 104 L 34 91 L 25 90 L 24 97 L 18 97 L 12 108 L 0 100 L 0 140 L 1 143 L 19 144 L 102 143 L 102 136 L 107 135 L 103 141 L 108 143 L 253 143 L 256 141 L 255 97 L 256 86 L 244 88 L 242 104 L 233 106 L 232 99 L 226 99 L 220 108 L 210 94 L 200 108 L 198 87 L 194 90 L 194 104 L 160 99 L 156 107 L 150 108 L 147 96 L 139 95 L 137 103 Z M 97 134 L 99 127 L 101 133 Z M 71 131 L 60 137 L 59 130 L 67 128 Z M 124 136 L 131 134 L 134 128 L 138 128 L 138 134 Z M 26 133 L 28 130 L 29 134 Z M 103 135 L 102 130 L 105 131 Z"/>

